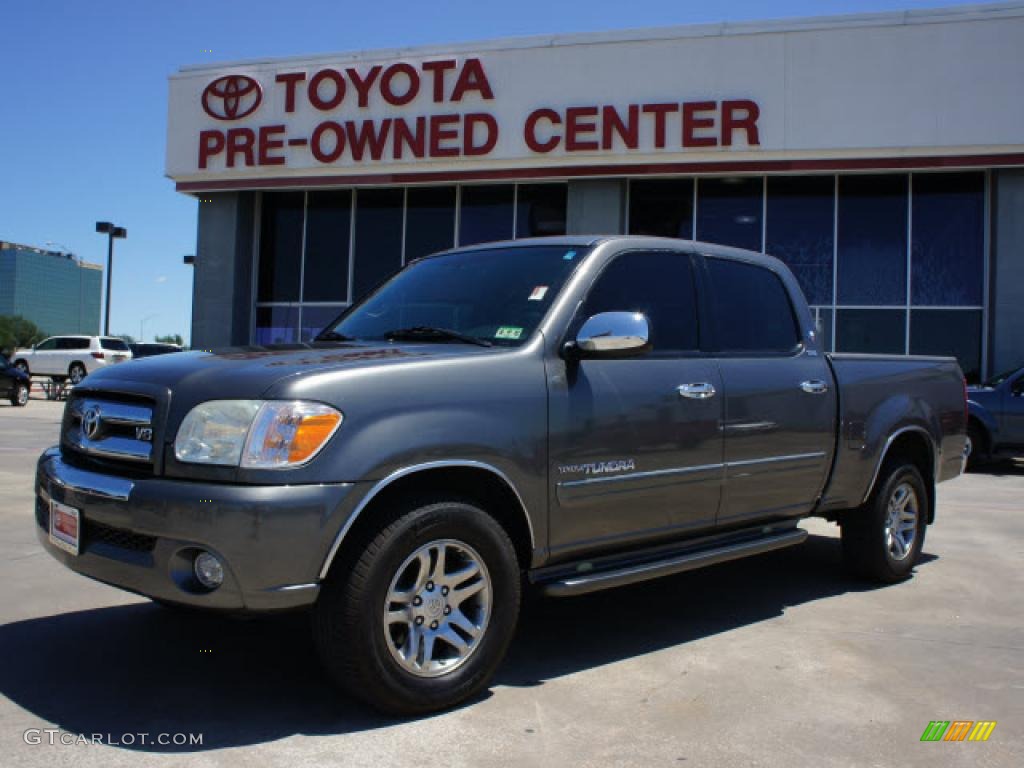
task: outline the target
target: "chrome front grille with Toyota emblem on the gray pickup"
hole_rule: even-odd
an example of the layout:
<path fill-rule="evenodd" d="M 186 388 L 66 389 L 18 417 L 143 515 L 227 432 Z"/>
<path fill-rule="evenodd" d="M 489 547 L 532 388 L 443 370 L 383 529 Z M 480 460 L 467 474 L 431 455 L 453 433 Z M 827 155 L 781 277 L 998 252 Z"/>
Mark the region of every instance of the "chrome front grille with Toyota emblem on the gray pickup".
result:
<path fill-rule="evenodd" d="M 154 403 L 102 392 L 73 394 L 65 410 L 60 444 L 96 469 L 151 474 L 154 467 Z"/>

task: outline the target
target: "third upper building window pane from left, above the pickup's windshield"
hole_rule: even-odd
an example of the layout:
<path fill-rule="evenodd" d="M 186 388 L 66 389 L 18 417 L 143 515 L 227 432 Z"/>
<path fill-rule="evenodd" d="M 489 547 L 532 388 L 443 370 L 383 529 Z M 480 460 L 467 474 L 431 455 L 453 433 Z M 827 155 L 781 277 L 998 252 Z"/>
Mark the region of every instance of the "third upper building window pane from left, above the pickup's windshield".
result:
<path fill-rule="evenodd" d="M 353 301 L 401 268 L 404 200 L 401 188 L 359 189 L 356 193 Z"/>

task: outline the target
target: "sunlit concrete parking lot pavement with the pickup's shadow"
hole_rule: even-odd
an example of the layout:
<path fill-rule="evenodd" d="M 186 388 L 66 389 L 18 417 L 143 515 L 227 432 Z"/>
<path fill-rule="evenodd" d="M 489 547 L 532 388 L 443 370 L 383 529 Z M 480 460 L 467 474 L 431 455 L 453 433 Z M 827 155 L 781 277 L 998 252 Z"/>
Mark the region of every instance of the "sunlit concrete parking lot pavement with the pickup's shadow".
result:
<path fill-rule="evenodd" d="M 838 528 L 807 521 L 797 548 L 536 600 L 489 693 L 401 722 L 335 693 L 302 615 L 178 614 L 46 555 L 32 481 L 59 416 L 0 404 L 4 765 L 1024 765 L 1024 466 L 940 486 L 909 582 L 849 580 Z M 923 743 L 932 720 L 997 725 Z"/>

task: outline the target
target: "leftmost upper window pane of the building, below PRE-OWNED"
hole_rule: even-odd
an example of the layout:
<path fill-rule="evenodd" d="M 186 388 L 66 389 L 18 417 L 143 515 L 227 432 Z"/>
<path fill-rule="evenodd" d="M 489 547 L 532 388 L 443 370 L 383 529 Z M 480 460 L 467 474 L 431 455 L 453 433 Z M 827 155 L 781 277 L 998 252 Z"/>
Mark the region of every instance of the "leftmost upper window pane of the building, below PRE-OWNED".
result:
<path fill-rule="evenodd" d="M 259 301 L 298 301 L 305 193 L 263 193 Z"/>

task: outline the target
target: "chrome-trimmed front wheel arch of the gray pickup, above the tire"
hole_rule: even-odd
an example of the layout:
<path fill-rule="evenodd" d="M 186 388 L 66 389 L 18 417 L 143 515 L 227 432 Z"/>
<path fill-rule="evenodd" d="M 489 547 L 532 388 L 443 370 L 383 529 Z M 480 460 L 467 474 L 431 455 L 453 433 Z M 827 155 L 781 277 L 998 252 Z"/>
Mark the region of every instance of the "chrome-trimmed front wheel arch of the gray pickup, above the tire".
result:
<path fill-rule="evenodd" d="M 453 488 L 457 490 L 453 492 Z M 520 566 L 530 565 L 537 539 L 529 511 L 508 475 L 477 461 L 440 461 L 398 469 L 379 480 L 359 501 L 331 545 L 319 570 L 323 581 L 346 545 L 359 540 L 358 534 L 373 526 L 374 509 L 413 495 L 450 494 L 453 498 L 479 504 L 508 532 Z M 369 512 L 369 514 L 368 514 Z"/>

